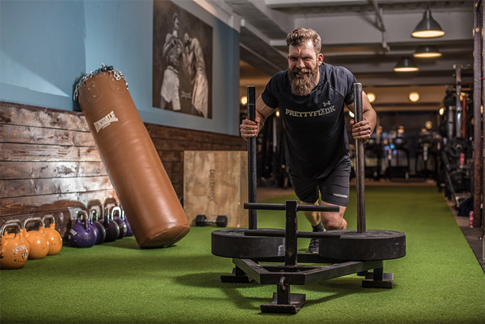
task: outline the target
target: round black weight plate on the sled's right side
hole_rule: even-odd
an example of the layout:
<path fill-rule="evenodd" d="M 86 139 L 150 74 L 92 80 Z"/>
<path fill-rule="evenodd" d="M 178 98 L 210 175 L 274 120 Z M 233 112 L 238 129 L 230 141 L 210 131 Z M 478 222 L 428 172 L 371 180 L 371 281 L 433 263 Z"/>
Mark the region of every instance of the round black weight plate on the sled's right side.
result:
<path fill-rule="evenodd" d="M 333 230 L 319 239 L 319 255 L 329 259 L 372 261 L 398 259 L 406 255 L 406 235 L 393 230 Z"/>

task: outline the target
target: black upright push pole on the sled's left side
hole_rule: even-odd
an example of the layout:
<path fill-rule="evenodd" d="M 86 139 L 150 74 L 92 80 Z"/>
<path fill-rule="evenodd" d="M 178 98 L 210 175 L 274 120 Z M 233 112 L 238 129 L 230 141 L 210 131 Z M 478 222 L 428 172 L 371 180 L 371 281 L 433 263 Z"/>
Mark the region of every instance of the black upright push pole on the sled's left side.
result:
<path fill-rule="evenodd" d="M 256 119 L 256 87 L 248 85 L 247 91 L 247 119 Z M 256 203 L 256 137 L 247 140 L 247 167 L 248 167 L 248 201 Z M 249 210 L 249 230 L 258 228 L 257 210 Z"/>

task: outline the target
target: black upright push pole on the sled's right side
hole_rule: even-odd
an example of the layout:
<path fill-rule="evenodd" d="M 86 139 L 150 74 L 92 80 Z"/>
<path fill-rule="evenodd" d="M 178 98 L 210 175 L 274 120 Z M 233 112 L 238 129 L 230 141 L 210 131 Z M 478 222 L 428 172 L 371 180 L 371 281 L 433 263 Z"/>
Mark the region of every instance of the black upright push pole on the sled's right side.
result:
<path fill-rule="evenodd" d="M 353 84 L 353 109 L 355 113 L 355 123 L 364 119 L 362 112 L 362 83 Z M 357 232 L 365 232 L 365 187 L 364 187 L 364 141 L 355 140 L 355 187 L 357 196 Z"/>

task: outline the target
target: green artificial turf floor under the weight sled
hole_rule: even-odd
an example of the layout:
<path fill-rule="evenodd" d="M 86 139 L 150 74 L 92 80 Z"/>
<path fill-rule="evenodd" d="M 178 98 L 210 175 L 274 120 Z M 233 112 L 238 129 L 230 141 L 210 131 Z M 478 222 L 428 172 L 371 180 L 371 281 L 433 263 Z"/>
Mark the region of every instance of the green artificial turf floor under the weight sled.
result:
<path fill-rule="evenodd" d="M 233 264 L 211 255 L 218 228 L 193 227 L 170 248 L 130 237 L 0 271 L 0 323 L 485 323 L 484 272 L 436 187 L 368 187 L 366 210 L 367 229 L 407 235 L 407 255 L 384 262 L 393 289 L 357 275 L 293 285 L 306 293 L 298 314 L 263 314 L 276 286 L 222 283 Z M 353 189 L 346 219 L 355 228 Z M 258 227 L 284 228 L 284 212 L 259 211 Z M 299 229 L 311 230 L 303 216 Z"/>

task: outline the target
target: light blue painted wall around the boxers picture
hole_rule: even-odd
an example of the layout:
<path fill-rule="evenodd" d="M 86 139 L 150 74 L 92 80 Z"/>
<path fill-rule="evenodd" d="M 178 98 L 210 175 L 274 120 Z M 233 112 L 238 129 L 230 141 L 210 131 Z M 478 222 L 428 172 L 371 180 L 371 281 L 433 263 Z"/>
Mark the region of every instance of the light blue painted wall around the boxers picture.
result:
<path fill-rule="evenodd" d="M 0 100 L 73 110 L 76 78 L 101 63 L 123 72 L 149 123 L 239 134 L 239 34 L 193 1 L 174 1 L 213 28 L 213 116 L 152 107 L 153 2 L 0 1 Z"/>

